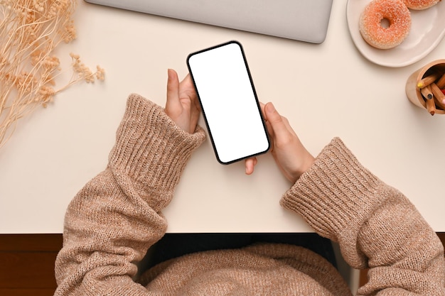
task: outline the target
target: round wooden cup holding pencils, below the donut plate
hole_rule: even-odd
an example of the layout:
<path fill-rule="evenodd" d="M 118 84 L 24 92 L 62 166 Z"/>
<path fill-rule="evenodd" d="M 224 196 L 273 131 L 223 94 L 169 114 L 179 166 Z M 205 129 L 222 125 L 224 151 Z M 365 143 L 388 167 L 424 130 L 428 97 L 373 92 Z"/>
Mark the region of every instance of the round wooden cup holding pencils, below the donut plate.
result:
<path fill-rule="evenodd" d="M 445 73 L 445 60 L 434 60 L 433 62 L 424 65 L 424 67 L 415 71 L 408 77 L 407 84 L 405 85 L 405 92 L 407 93 L 407 97 L 412 104 L 418 106 L 419 108 L 427 109 L 427 103 L 417 84 L 423 78 L 436 72 Z M 441 109 L 441 107 L 436 108 L 435 114 L 445 114 L 445 110 Z"/>

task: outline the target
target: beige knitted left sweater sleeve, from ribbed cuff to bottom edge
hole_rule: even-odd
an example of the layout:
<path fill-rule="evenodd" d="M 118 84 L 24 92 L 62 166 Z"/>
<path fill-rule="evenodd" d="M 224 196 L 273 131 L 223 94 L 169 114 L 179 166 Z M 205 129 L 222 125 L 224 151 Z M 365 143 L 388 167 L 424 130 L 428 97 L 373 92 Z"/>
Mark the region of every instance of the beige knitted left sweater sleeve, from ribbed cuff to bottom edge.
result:
<path fill-rule="evenodd" d="M 160 106 L 132 94 L 109 164 L 65 214 L 55 295 L 147 295 L 136 263 L 166 231 L 161 210 L 205 133 L 182 131 Z"/>

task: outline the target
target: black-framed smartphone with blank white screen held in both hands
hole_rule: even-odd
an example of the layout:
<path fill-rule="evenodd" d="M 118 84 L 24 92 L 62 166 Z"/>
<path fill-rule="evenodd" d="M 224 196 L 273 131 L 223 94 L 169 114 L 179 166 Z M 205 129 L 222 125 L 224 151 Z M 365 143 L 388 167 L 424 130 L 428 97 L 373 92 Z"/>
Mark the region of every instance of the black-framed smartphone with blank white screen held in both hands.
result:
<path fill-rule="evenodd" d="M 230 41 L 191 53 L 187 66 L 218 162 L 266 153 L 269 136 L 242 45 Z"/>

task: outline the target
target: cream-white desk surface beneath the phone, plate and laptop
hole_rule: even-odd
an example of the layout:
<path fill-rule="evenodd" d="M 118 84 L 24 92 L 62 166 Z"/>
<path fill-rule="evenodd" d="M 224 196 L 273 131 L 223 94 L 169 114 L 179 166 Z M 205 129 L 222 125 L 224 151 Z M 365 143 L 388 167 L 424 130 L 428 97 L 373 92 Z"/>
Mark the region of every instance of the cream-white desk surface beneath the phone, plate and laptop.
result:
<path fill-rule="evenodd" d="M 404 93 L 411 72 L 445 57 L 445 40 L 413 65 L 375 65 L 353 45 L 345 6 L 334 1 L 326 41 L 313 45 L 79 1 L 78 38 L 59 56 L 67 73 L 73 52 L 91 67 L 101 65 L 106 79 L 59 94 L 21 120 L 0 150 L 0 233 L 62 232 L 70 200 L 107 165 L 127 96 L 136 92 L 163 105 L 167 68 L 183 77 L 188 53 L 227 40 L 242 43 L 259 99 L 274 102 L 313 155 L 340 136 L 435 231 L 445 231 L 445 116 L 429 115 Z M 289 186 L 271 155 L 246 176 L 243 163 L 218 164 L 206 141 L 164 212 L 168 232 L 311 231 L 279 206 Z"/>

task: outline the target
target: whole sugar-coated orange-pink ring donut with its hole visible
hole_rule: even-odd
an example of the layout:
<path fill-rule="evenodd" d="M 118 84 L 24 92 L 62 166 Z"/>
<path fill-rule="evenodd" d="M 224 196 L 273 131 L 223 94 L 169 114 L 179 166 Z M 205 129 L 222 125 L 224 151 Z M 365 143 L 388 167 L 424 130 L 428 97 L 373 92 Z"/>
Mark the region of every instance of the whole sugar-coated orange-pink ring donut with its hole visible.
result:
<path fill-rule="evenodd" d="M 383 26 L 385 20 L 388 26 Z M 395 48 L 409 34 L 411 13 L 402 0 L 372 0 L 360 16 L 359 28 L 369 45 Z"/>

